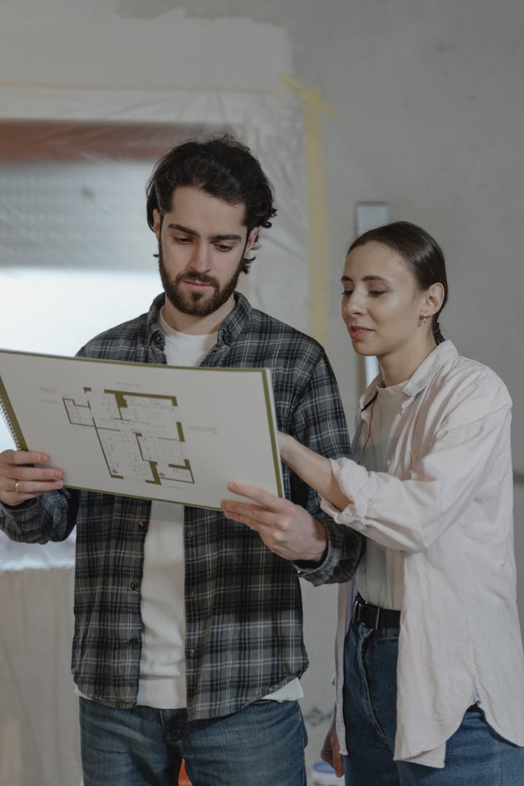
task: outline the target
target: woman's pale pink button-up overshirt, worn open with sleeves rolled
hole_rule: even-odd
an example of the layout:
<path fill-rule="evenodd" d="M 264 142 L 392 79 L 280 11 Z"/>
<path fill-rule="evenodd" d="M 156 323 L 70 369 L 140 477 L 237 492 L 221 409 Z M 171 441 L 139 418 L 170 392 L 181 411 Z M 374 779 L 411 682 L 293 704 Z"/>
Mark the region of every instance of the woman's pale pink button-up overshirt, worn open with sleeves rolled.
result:
<path fill-rule="evenodd" d="M 368 438 L 377 378 L 354 439 Z M 516 607 L 511 399 L 491 369 L 450 341 L 403 386 L 387 472 L 332 460 L 350 498 L 324 510 L 404 555 L 394 758 L 444 766 L 445 740 L 478 700 L 489 725 L 524 745 L 524 656 Z M 343 645 L 354 582 L 339 588 L 337 732 L 343 752 Z"/>

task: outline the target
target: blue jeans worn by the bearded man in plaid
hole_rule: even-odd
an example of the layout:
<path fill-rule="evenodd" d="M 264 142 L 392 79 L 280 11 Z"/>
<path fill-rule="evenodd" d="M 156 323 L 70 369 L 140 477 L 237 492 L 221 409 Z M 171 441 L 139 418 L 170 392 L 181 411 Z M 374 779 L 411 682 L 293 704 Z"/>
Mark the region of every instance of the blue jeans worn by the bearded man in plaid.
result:
<path fill-rule="evenodd" d="M 306 728 L 296 701 L 258 701 L 225 718 L 117 710 L 80 699 L 84 786 L 306 786 Z"/>

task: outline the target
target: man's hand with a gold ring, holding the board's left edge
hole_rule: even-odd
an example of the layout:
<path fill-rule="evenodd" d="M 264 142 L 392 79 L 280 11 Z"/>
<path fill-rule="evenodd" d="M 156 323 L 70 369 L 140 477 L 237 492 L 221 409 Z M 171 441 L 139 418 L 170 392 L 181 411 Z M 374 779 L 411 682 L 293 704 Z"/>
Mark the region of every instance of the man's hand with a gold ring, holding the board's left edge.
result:
<path fill-rule="evenodd" d="M 5 505 L 20 505 L 28 499 L 60 489 L 62 470 L 38 467 L 49 461 L 44 453 L 32 450 L 4 450 L 0 453 L 0 501 Z"/>

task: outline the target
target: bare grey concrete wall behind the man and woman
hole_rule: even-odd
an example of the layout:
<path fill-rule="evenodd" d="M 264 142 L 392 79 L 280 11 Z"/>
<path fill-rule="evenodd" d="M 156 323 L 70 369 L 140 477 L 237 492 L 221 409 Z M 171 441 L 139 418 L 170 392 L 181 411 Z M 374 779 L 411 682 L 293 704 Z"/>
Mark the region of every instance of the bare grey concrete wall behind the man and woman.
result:
<path fill-rule="evenodd" d="M 348 416 L 361 369 L 339 320 L 339 275 L 354 205 L 381 200 L 391 219 L 420 223 L 442 244 L 451 290 L 443 332 L 507 382 L 515 469 L 524 471 L 519 0 L 6 0 L 0 21 L 4 84 L 274 90 L 284 71 L 318 86 L 338 110 L 324 117 L 322 261 L 328 350 Z M 518 487 L 519 566 L 523 512 Z M 308 709 L 322 714 L 335 601 L 331 589 L 314 592 L 306 589 L 313 666 L 304 684 Z"/>

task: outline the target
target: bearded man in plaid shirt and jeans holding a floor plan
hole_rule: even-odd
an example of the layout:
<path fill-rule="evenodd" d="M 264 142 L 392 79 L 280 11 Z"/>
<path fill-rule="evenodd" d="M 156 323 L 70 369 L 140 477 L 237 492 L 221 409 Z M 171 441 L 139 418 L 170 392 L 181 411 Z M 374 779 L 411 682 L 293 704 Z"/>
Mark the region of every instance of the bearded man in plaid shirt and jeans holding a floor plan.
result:
<path fill-rule="evenodd" d="M 235 292 L 276 215 L 251 152 L 229 136 L 170 150 L 148 183 L 147 211 L 164 292 L 79 354 L 269 367 L 279 428 L 322 454 L 349 455 L 322 348 Z M 72 673 L 84 786 L 173 786 L 181 758 L 194 786 L 306 784 L 298 571 L 350 575 L 360 537 L 324 516 L 285 467 L 283 541 L 302 538 L 301 566 L 222 512 L 68 490 L 60 469 L 42 468 L 46 459 L 0 454 L 0 527 L 42 543 L 76 526 Z"/>

